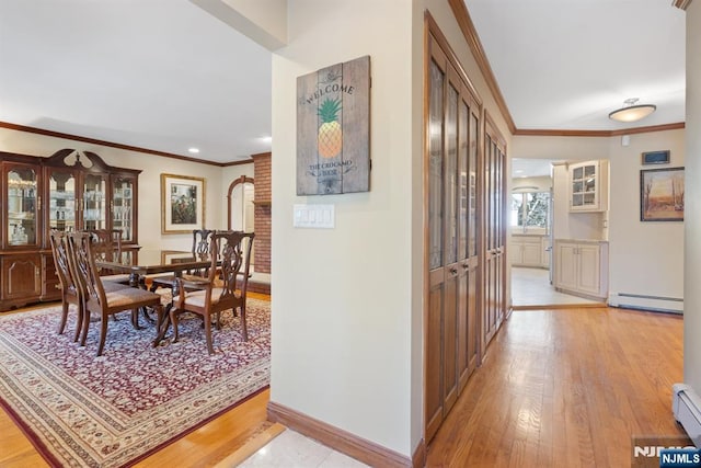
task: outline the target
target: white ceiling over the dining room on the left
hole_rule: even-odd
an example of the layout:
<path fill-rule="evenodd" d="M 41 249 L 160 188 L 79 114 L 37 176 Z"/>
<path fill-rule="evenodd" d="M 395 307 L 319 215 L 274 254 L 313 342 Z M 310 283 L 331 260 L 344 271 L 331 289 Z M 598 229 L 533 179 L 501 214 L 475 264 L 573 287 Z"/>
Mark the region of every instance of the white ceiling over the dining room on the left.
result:
<path fill-rule="evenodd" d="M 187 0 L 1 0 L 0 121 L 249 159 L 271 150 L 271 58 Z"/>

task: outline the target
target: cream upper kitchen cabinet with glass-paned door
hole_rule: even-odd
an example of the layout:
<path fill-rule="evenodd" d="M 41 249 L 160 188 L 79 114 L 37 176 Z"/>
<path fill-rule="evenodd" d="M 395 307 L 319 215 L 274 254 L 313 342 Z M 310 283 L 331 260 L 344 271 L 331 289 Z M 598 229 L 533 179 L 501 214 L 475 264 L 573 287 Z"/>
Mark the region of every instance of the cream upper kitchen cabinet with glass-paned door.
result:
<path fill-rule="evenodd" d="M 609 162 L 587 161 L 570 164 L 570 210 L 606 212 L 609 209 Z"/>

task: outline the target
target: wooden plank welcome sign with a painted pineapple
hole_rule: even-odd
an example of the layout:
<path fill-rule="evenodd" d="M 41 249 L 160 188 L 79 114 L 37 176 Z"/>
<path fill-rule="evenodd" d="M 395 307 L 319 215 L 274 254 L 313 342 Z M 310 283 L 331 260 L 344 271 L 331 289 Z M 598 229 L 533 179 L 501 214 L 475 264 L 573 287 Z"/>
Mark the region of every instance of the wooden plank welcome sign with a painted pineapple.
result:
<path fill-rule="evenodd" d="M 370 57 L 297 78 L 297 195 L 370 190 Z"/>

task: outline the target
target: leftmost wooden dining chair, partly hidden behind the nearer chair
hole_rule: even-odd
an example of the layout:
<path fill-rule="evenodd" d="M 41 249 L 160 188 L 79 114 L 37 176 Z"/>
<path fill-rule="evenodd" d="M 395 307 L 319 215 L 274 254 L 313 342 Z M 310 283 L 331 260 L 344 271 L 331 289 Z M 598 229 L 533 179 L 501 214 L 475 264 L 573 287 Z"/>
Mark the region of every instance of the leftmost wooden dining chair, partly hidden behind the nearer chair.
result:
<path fill-rule="evenodd" d="M 83 320 L 83 303 L 78 292 L 78 286 L 76 285 L 76 282 L 73 282 L 73 274 L 70 270 L 66 233 L 64 231 L 51 229 L 49 232 L 49 243 L 51 244 L 56 275 L 58 276 L 58 282 L 61 288 L 61 320 L 58 323 L 58 334 L 62 334 L 66 330 L 68 311 L 72 305 L 76 307 L 78 312 L 73 341 L 78 341 Z"/>

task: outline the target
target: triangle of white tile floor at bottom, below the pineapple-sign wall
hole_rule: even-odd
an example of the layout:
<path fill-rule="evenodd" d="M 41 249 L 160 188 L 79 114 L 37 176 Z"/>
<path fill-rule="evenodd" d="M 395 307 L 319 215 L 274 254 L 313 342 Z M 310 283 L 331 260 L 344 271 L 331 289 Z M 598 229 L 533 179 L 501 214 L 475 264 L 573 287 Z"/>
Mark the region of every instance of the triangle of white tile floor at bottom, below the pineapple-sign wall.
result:
<path fill-rule="evenodd" d="M 240 467 L 360 468 L 367 465 L 335 452 L 303 435 L 285 430 Z"/>

